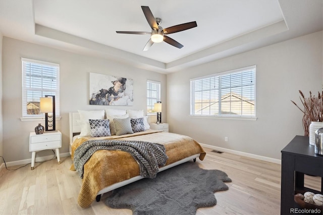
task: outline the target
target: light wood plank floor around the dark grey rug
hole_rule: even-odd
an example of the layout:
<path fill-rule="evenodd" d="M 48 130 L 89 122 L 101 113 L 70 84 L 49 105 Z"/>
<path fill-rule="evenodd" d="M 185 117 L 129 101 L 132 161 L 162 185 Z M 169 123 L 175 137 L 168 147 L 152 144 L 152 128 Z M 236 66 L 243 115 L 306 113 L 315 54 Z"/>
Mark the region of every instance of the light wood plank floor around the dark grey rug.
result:
<path fill-rule="evenodd" d="M 199 208 L 197 214 L 280 214 L 281 166 L 230 153 L 207 152 L 197 160 L 203 169 L 218 169 L 232 179 L 228 191 L 215 193 L 216 206 Z M 0 171 L 0 214 L 132 214 L 129 209 L 113 209 L 100 202 L 89 208 L 77 205 L 81 179 L 69 170 L 70 157 L 36 163 L 16 171 Z M 17 167 L 10 167 L 15 169 Z M 307 187 L 320 187 L 320 178 L 306 176 Z"/>

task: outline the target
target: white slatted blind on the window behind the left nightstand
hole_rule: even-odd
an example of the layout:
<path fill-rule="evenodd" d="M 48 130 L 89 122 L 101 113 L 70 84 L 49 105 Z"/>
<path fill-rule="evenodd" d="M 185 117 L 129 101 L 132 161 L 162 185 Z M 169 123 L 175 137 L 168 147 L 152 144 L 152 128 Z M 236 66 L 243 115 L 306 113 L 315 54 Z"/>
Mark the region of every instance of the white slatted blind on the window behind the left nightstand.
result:
<path fill-rule="evenodd" d="M 55 113 L 60 116 L 60 65 L 22 58 L 23 117 L 39 117 L 40 97 L 55 95 Z"/>

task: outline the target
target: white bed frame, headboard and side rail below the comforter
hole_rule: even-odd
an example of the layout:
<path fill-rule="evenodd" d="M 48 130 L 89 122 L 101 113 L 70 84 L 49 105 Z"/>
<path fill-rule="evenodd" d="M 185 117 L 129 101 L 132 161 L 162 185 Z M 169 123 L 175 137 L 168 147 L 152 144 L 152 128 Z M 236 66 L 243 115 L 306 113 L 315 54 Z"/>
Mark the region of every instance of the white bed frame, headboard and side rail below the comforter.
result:
<path fill-rule="evenodd" d="M 79 115 L 79 113 L 70 113 L 70 153 L 72 152 L 72 147 L 71 146 L 73 144 L 73 137 L 75 135 L 78 135 L 80 132 L 81 132 L 81 124 L 80 124 L 80 115 Z M 194 162 L 195 162 L 196 157 L 198 157 L 199 155 L 200 154 L 194 154 L 192 156 L 189 156 L 189 157 L 186 157 L 184 159 L 181 159 L 178 162 L 175 162 L 173 164 L 161 167 L 161 168 L 159 168 L 158 172 L 161 172 L 161 171 L 167 170 L 169 168 L 175 167 L 177 165 L 183 164 L 185 162 L 188 162 L 191 159 L 193 159 Z M 132 182 L 138 181 L 138 180 L 143 179 L 143 178 L 144 177 L 142 177 L 142 176 L 136 176 L 134 178 L 131 178 L 131 179 L 128 179 L 128 180 L 125 180 L 125 181 L 122 181 L 122 182 L 118 182 L 118 183 L 115 183 L 115 184 L 113 184 L 111 186 L 105 187 L 105 188 L 103 188 L 102 190 L 100 190 L 97 193 L 96 201 L 100 201 L 101 195 L 103 193 L 112 191 L 112 190 L 117 189 L 119 187 L 123 187 L 123 186 L 125 186 L 127 184 L 130 184 Z"/>

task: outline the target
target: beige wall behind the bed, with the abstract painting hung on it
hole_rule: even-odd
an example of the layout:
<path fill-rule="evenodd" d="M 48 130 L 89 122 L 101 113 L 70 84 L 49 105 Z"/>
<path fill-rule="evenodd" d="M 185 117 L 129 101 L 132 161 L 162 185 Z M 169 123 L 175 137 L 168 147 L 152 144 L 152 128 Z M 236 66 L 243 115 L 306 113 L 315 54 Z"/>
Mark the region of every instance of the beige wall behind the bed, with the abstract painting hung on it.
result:
<path fill-rule="evenodd" d="M 69 151 L 69 112 L 101 110 L 107 106 L 89 105 L 89 73 L 131 78 L 134 81 L 134 105 L 114 106 L 117 109 L 146 110 L 146 80 L 161 82 L 161 101 L 166 110 L 166 75 L 137 69 L 121 63 L 36 45 L 8 37 L 3 38 L 3 150 L 6 162 L 30 159 L 29 133 L 43 121 L 22 122 L 21 58 L 60 64 L 60 108 L 62 119 L 57 130 L 62 132 L 61 153 Z M 167 112 L 163 111 L 166 119 Z M 165 119 L 163 121 L 165 121 Z M 52 154 L 49 150 L 38 156 Z"/>

